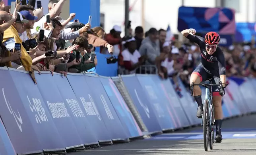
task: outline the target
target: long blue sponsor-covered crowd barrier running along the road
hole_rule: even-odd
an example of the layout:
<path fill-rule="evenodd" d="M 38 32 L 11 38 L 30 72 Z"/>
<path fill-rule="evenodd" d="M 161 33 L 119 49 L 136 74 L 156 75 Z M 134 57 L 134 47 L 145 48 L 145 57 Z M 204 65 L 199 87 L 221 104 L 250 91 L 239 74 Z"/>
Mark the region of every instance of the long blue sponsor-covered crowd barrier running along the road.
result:
<path fill-rule="evenodd" d="M 0 68 L 0 154 L 66 153 L 67 149 L 143 138 L 199 125 L 184 85 L 157 75 L 103 77 Z M 225 118 L 256 112 L 256 79 L 229 78 Z M 204 98 L 205 89 L 202 89 Z"/>

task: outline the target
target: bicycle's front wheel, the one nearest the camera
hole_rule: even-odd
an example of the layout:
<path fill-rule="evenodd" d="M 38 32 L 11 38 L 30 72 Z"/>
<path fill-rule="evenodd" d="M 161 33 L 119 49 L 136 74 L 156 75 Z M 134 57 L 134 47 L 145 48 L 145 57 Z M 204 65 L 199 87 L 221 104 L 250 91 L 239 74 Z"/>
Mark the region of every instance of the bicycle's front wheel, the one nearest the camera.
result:
<path fill-rule="evenodd" d="M 209 147 L 209 101 L 204 100 L 204 112 L 203 112 L 203 133 L 204 133 L 204 150 L 208 151 Z"/>

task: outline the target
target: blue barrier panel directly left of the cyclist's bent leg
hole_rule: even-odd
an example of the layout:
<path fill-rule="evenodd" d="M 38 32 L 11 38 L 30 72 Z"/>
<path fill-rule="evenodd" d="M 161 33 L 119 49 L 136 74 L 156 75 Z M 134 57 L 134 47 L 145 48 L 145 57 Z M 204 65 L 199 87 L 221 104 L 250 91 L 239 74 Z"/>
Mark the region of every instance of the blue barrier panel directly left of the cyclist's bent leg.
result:
<path fill-rule="evenodd" d="M 196 125 L 201 123 L 201 120 L 198 119 L 198 117 L 196 117 L 198 104 L 194 102 L 194 100 L 192 99 L 192 96 L 190 95 L 190 92 L 184 87 L 180 78 L 178 79 L 178 81 L 179 81 L 179 87 L 181 89 L 182 96 L 184 97 L 184 99 L 186 99 L 186 103 L 188 104 L 188 106 L 184 105 L 184 108 L 186 109 L 185 111 L 187 115 L 190 115 L 189 119 L 190 119 L 191 125 Z"/>

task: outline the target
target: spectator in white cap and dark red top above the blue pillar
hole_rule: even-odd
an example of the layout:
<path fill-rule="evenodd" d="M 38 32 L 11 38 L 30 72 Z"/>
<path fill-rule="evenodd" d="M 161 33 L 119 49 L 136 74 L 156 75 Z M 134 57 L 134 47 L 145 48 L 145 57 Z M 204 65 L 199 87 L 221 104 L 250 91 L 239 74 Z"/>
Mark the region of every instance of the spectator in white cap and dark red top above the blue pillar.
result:
<path fill-rule="evenodd" d="M 110 30 L 110 33 L 107 34 L 105 38 L 105 40 L 114 47 L 114 55 L 119 55 L 119 53 L 122 51 L 122 38 L 120 36 L 121 32 L 122 28 L 118 25 L 114 25 Z"/>

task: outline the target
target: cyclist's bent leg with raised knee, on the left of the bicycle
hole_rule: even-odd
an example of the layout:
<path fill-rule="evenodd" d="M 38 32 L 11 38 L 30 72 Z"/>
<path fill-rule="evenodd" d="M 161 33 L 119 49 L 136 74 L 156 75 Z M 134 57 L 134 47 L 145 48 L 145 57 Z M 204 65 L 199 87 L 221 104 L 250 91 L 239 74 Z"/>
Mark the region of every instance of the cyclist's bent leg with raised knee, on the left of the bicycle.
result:
<path fill-rule="evenodd" d="M 203 80 L 205 81 L 206 77 L 207 77 L 207 73 L 204 70 L 204 68 L 202 66 L 197 66 L 190 76 L 190 85 L 191 83 L 199 84 Z M 203 112 L 202 91 L 198 85 L 194 86 L 193 96 L 198 104 L 196 116 L 198 118 L 202 118 L 202 112 Z"/>

